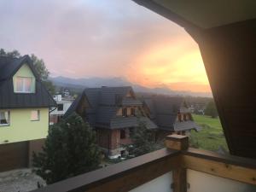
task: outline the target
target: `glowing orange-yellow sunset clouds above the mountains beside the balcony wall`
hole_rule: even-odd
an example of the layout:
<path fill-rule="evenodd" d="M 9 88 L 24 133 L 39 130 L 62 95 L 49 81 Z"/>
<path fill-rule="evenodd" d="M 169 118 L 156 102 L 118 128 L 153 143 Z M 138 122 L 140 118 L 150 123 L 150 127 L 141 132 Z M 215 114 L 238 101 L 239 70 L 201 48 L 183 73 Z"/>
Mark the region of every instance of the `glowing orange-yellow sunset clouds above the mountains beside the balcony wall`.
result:
<path fill-rule="evenodd" d="M 136 69 L 127 76 L 135 83 L 148 87 L 165 85 L 172 90 L 211 91 L 200 51 L 189 37 L 153 45 L 134 63 Z"/>

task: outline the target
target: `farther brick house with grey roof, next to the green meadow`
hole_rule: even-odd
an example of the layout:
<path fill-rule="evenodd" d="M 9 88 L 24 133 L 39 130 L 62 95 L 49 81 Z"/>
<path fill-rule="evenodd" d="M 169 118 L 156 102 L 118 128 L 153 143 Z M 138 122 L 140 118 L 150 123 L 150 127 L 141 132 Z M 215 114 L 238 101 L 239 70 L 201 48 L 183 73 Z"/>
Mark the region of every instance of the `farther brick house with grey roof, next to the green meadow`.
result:
<path fill-rule="evenodd" d="M 199 131 L 183 97 L 148 96 L 143 98 L 143 108 L 148 117 L 158 126 L 157 138 L 172 133 L 185 135 L 190 130 Z"/>

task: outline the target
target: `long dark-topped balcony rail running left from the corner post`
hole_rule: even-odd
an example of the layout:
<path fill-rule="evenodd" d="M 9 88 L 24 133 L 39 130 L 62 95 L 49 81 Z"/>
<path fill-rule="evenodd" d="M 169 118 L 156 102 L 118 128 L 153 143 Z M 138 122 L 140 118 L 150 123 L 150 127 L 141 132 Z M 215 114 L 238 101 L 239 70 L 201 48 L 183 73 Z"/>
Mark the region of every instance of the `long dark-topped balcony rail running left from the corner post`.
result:
<path fill-rule="evenodd" d="M 180 152 L 160 149 L 150 154 L 68 178 L 34 192 L 129 191 L 180 166 Z"/>

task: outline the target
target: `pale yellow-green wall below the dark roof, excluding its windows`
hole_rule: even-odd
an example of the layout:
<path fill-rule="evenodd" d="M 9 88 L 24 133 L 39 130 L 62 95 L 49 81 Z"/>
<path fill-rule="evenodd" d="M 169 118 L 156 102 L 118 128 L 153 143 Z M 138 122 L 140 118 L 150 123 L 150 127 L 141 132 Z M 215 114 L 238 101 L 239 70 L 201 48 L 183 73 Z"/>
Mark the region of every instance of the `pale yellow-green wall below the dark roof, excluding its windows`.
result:
<path fill-rule="evenodd" d="M 31 121 L 32 110 L 40 110 L 40 119 L 38 121 Z M 10 125 L 0 126 L 0 144 L 47 137 L 49 108 L 10 109 L 9 111 Z"/>

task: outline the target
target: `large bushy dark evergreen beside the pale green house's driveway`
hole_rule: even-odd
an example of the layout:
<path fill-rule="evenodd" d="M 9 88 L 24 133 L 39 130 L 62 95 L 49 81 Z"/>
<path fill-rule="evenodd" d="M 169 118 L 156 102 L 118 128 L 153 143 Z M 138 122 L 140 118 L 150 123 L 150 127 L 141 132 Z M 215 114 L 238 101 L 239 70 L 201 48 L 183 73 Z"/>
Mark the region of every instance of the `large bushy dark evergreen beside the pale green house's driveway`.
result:
<path fill-rule="evenodd" d="M 76 113 L 49 130 L 43 152 L 33 154 L 33 166 L 47 183 L 95 170 L 100 163 L 96 134 Z"/>

